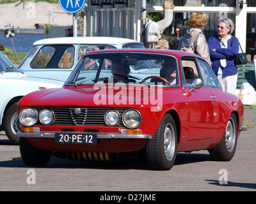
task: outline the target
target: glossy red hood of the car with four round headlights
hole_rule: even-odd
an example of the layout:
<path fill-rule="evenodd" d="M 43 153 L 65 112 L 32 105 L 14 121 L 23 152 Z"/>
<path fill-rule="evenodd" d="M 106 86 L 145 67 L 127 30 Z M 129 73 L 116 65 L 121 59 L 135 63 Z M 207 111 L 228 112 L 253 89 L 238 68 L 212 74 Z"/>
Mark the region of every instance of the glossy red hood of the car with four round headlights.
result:
<path fill-rule="evenodd" d="M 158 96 L 156 96 L 156 94 Z M 22 100 L 33 106 L 131 106 L 156 104 L 162 89 L 147 86 L 124 85 L 116 89 L 114 86 L 96 87 L 62 87 L 46 89 L 25 96 Z M 153 103 L 154 102 L 154 103 Z"/>

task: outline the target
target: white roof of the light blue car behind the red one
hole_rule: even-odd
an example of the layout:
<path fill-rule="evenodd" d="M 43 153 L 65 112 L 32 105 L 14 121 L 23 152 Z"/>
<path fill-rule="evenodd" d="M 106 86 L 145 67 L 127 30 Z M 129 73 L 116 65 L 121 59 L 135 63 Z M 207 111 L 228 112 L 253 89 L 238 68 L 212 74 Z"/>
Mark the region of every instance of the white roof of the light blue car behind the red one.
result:
<path fill-rule="evenodd" d="M 63 37 L 63 38 L 46 38 L 42 40 L 35 41 L 33 45 L 52 45 L 52 44 L 92 44 L 92 45 L 118 45 L 124 43 L 138 43 L 143 45 L 143 43 L 136 40 L 131 40 L 127 38 L 115 38 L 115 37 Z"/>

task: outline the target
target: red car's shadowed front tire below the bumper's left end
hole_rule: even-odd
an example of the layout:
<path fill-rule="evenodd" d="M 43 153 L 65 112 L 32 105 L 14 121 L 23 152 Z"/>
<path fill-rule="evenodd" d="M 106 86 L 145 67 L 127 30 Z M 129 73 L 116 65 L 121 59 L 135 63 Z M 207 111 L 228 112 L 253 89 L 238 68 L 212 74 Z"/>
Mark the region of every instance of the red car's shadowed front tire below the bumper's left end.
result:
<path fill-rule="evenodd" d="M 45 166 L 49 162 L 51 154 L 51 151 L 33 147 L 26 138 L 20 138 L 20 155 L 26 165 Z"/>

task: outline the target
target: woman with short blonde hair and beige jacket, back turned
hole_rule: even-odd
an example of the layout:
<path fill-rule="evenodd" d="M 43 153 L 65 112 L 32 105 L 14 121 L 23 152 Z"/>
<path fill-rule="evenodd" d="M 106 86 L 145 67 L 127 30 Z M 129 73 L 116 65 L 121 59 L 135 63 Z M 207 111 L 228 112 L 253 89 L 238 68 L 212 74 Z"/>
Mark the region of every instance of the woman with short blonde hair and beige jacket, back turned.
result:
<path fill-rule="evenodd" d="M 194 52 L 195 54 L 203 57 L 205 61 L 211 66 L 211 59 L 209 54 L 209 48 L 205 36 L 202 33 L 205 25 L 207 24 L 208 16 L 204 12 L 196 11 L 192 13 L 189 17 L 189 26 L 190 29 L 184 34 L 180 39 L 178 50 L 184 50 L 189 48 L 191 40 L 195 36 L 194 41 Z"/>

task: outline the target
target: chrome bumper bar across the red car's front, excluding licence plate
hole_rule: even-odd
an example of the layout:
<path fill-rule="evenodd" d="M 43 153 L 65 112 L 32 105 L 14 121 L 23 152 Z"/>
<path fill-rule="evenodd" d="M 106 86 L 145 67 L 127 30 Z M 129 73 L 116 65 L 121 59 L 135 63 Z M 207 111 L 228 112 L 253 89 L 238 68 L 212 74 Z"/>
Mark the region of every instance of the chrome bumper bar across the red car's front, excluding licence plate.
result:
<path fill-rule="evenodd" d="M 67 132 L 68 133 L 68 132 Z M 69 132 L 70 133 L 70 132 Z M 76 132 L 72 132 L 76 133 Z M 81 134 L 81 133 L 80 133 Z M 86 133 L 90 134 L 90 133 Z M 141 135 L 128 135 L 121 133 L 91 133 L 96 134 L 97 139 L 149 139 L 152 140 L 151 135 L 141 134 Z M 55 138 L 55 133 L 16 133 L 16 136 L 21 138 Z"/>

